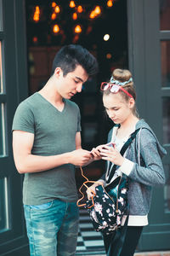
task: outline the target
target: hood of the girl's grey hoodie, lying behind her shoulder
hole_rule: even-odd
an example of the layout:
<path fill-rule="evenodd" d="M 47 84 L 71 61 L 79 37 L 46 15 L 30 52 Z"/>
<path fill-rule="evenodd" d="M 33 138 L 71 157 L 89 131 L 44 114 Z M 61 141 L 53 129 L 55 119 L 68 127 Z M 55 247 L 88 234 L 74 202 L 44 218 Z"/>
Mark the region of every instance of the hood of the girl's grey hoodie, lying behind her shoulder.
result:
<path fill-rule="evenodd" d="M 142 129 L 147 129 L 147 130 L 149 130 L 150 132 L 151 132 L 151 134 L 155 137 L 155 139 L 156 139 L 156 146 L 157 146 L 157 149 L 158 149 L 158 152 L 159 152 L 159 154 L 161 155 L 161 157 L 163 157 L 164 155 L 166 155 L 167 154 L 167 151 L 165 150 L 165 148 L 163 148 L 162 146 L 161 146 L 161 144 L 158 142 L 158 139 L 157 139 L 157 137 L 156 137 L 156 134 L 154 133 L 154 131 L 152 131 L 152 129 L 150 128 L 150 125 L 148 125 L 145 121 L 144 121 L 144 119 L 139 119 L 139 121 L 137 122 L 137 124 L 136 124 L 136 130 L 137 129 L 140 129 L 140 128 L 142 128 Z"/>

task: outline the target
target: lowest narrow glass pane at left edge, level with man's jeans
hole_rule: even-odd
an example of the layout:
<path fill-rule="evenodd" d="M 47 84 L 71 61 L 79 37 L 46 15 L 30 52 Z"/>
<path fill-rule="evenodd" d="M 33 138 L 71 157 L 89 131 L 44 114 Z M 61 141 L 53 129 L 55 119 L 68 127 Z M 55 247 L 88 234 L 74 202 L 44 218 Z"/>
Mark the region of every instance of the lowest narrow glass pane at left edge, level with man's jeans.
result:
<path fill-rule="evenodd" d="M 8 229 L 7 178 L 0 178 L 0 233 Z"/>

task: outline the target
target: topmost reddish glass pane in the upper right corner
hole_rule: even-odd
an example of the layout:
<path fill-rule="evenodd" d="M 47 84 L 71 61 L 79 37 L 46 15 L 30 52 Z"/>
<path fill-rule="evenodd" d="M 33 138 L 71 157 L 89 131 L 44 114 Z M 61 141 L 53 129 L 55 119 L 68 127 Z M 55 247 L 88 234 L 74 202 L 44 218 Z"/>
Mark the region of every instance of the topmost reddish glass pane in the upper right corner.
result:
<path fill-rule="evenodd" d="M 160 29 L 170 30 L 170 0 L 160 0 Z"/>

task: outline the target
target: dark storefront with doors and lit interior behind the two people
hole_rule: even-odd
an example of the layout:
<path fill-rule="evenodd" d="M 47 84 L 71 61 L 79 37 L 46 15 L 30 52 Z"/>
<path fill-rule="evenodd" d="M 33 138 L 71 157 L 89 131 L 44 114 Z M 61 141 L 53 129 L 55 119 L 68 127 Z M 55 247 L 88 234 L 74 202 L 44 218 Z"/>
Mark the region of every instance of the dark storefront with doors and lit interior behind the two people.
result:
<path fill-rule="evenodd" d="M 41 1 L 0 0 L 0 255 L 28 255 L 21 198 L 23 177 L 15 170 L 11 146 L 15 108 L 48 79 L 50 63 L 59 47 L 72 43 L 87 47 L 98 58 L 100 67 L 98 77 L 89 80 L 82 94 L 74 99 L 82 112 L 84 148 L 90 149 L 105 142 L 111 128 L 103 116 L 99 83 L 108 79 L 115 67 L 129 68 L 133 73 L 140 116 L 150 124 L 167 149 L 167 157 L 163 159 L 167 183 L 164 188 L 154 189 L 150 224 L 144 228 L 139 250 L 169 249 L 170 1 L 116 0 L 111 1 L 112 6 L 107 6 L 105 1 L 96 21 L 85 16 L 90 15 L 99 2 L 92 7 L 90 1 L 86 5 L 88 1 L 82 1 L 82 35 L 71 32 L 68 38 L 65 38 L 62 23 L 59 37 L 53 32 L 43 37 L 41 22 L 32 21 L 37 2 Z M 40 14 L 44 15 L 42 24 L 47 23 L 43 20 L 48 13 L 46 2 L 39 4 L 43 10 Z M 65 9 L 69 2 L 63 1 Z M 61 7 L 64 13 L 64 6 Z M 48 25 L 54 25 L 50 22 Z M 76 21 L 72 24 L 74 28 L 77 25 Z M 33 33 L 38 28 L 42 38 Z M 105 41 L 106 34 L 110 38 Z M 93 178 L 104 171 L 103 164 L 87 168 Z M 81 182 L 78 172 L 77 181 Z"/>

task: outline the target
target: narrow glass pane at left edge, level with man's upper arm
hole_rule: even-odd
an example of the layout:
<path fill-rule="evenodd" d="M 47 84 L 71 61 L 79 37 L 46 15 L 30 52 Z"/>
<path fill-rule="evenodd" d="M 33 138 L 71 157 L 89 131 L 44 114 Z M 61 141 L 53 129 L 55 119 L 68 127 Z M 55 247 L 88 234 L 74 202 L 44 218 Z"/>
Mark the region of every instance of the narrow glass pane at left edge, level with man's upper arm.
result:
<path fill-rule="evenodd" d="M 0 104 L 0 156 L 5 153 L 4 108 L 3 104 Z"/>

